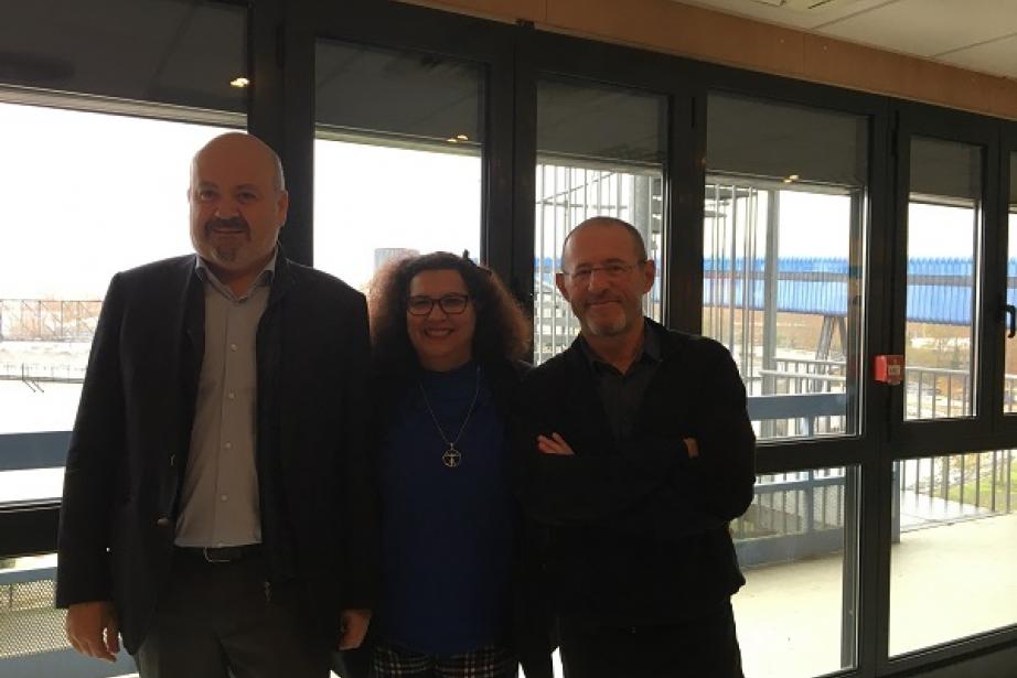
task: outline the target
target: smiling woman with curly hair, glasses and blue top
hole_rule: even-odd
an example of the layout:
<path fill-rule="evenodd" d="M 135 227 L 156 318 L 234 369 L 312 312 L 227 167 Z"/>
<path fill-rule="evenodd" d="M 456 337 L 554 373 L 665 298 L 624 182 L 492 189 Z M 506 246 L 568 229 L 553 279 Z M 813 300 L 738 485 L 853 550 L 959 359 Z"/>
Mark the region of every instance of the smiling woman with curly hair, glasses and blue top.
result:
<path fill-rule="evenodd" d="M 374 672 L 515 676 L 508 410 L 529 323 L 492 271 L 448 252 L 382 269 L 368 308 L 382 498 Z"/>

